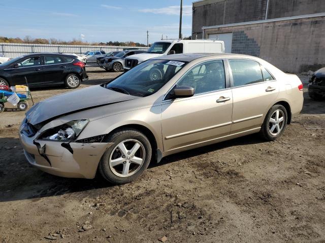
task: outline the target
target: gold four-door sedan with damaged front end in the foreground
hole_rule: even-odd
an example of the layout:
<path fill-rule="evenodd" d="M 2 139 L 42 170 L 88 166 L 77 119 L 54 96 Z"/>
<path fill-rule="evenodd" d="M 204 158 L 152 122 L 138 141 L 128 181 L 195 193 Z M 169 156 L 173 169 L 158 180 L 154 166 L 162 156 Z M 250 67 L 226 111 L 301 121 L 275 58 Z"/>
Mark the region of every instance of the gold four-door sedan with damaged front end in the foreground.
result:
<path fill-rule="evenodd" d="M 44 100 L 27 113 L 28 162 L 53 175 L 116 184 L 180 151 L 259 133 L 279 138 L 303 106 L 303 85 L 237 54 L 156 57 L 111 82 Z"/>

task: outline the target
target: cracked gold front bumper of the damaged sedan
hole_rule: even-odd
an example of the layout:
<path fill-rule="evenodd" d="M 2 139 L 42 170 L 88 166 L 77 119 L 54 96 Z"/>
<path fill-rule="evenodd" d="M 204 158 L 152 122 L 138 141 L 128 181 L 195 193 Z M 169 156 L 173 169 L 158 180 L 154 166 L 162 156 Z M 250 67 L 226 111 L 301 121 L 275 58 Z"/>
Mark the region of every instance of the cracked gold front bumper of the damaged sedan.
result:
<path fill-rule="evenodd" d="M 20 133 L 30 165 L 52 175 L 72 178 L 95 177 L 100 159 L 113 143 L 79 143 L 37 140 Z"/>

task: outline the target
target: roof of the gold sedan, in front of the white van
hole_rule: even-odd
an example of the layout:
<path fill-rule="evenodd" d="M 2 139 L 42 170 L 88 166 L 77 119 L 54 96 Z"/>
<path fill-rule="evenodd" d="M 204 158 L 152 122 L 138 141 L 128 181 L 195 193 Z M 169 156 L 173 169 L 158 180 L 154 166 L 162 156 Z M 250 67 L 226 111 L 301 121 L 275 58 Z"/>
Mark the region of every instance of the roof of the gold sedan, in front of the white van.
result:
<path fill-rule="evenodd" d="M 199 59 L 199 58 L 213 57 L 213 56 L 215 58 L 253 58 L 253 59 L 257 59 L 256 57 L 253 57 L 253 56 L 242 55 L 242 54 L 233 54 L 233 53 L 185 53 L 185 54 L 159 56 L 159 57 L 155 57 L 152 59 L 191 62 L 191 61 Z"/>

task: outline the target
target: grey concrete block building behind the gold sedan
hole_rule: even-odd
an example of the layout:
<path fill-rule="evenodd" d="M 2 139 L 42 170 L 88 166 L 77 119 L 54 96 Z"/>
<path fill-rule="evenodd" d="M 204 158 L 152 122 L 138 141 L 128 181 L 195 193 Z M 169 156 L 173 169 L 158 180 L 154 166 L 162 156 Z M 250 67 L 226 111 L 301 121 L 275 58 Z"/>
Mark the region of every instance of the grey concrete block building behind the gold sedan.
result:
<path fill-rule="evenodd" d="M 193 39 L 219 39 L 285 72 L 325 66 L 325 0 L 201 0 L 192 11 Z"/>

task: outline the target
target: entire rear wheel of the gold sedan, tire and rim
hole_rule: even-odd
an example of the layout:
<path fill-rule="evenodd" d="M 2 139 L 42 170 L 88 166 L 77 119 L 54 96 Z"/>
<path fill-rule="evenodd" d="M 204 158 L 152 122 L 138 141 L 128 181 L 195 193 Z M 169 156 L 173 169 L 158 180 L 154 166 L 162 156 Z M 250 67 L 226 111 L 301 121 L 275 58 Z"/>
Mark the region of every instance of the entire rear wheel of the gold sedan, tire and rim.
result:
<path fill-rule="evenodd" d="M 288 121 L 288 114 L 283 105 L 273 105 L 265 117 L 261 131 L 263 138 L 268 141 L 278 139 L 284 132 Z"/>

